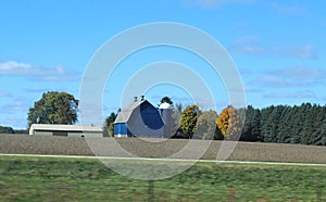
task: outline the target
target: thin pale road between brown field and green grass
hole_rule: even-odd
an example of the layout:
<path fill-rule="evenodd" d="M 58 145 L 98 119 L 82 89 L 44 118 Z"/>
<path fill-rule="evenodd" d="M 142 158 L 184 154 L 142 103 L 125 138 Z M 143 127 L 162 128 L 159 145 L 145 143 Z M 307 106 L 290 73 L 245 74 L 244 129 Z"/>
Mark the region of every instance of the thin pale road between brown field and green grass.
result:
<path fill-rule="evenodd" d="M 148 159 L 148 157 L 113 157 L 113 156 L 90 156 L 90 155 L 39 155 L 39 154 L 8 154 L 8 153 L 0 153 L 0 156 L 92 159 L 92 160 L 127 160 L 127 161 L 137 160 L 137 161 L 158 161 L 158 162 L 159 161 L 166 161 L 166 162 L 203 162 L 203 163 L 296 165 L 296 166 L 326 166 L 326 164 L 310 164 L 310 163 L 217 161 L 217 160 L 184 160 L 184 159 Z"/>

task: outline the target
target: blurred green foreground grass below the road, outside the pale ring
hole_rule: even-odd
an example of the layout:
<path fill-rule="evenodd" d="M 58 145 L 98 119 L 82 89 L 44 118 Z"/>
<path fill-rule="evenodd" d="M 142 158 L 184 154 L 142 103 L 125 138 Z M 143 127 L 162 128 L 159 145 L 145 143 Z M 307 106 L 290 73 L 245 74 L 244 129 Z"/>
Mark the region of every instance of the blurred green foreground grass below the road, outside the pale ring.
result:
<path fill-rule="evenodd" d="M 149 182 L 98 160 L 0 156 L 0 201 L 326 201 L 325 179 L 325 166 L 197 163 Z"/>

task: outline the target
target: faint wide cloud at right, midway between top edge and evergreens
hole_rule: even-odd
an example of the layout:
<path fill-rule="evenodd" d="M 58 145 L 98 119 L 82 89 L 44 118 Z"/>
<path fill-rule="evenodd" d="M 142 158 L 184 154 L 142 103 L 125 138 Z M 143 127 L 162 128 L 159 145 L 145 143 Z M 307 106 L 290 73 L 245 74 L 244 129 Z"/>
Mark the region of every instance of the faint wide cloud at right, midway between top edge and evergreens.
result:
<path fill-rule="evenodd" d="M 313 45 L 301 46 L 263 46 L 262 40 L 254 36 L 244 36 L 235 40 L 230 52 L 251 55 L 292 56 L 299 59 L 315 59 Z"/>

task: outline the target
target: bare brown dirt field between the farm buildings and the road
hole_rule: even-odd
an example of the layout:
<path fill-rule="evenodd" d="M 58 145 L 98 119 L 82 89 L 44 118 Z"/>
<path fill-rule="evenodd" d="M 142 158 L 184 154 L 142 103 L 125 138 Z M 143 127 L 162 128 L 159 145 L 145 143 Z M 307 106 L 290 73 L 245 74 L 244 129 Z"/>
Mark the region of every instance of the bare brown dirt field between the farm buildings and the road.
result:
<path fill-rule="evenodd" d="M 160 141 L 160 142 L 153 142 Z M 191 146 L 191 147 L 189 147 Z M 222 141 L 136 139 L 136 138 L 77 138 L 53 136 L 0 135 L 0 153 L 71 154 L 164 157 L 184 151 L 183 159 L 203 155 L 216 160 Z M 90 149 L 91 148 L 91 149 Z M 118 152 L 123 149 L 127 152 Z M 186 154 L 185 154 L 186 153 Z M 326 163 L 326 147 L 239 142 L 227 160 Z"/>

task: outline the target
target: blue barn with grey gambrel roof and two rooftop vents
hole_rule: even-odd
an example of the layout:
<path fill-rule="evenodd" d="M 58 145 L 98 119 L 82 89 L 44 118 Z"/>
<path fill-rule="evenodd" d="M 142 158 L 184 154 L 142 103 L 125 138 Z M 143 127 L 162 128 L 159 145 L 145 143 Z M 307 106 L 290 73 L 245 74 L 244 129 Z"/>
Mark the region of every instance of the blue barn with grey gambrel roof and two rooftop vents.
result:
<path fill-rule="evenodd" d="M 143 97 L 124 108 L 114 122 L 114 137 L 163 138 L 164 122 L 159 110 Z"/>

